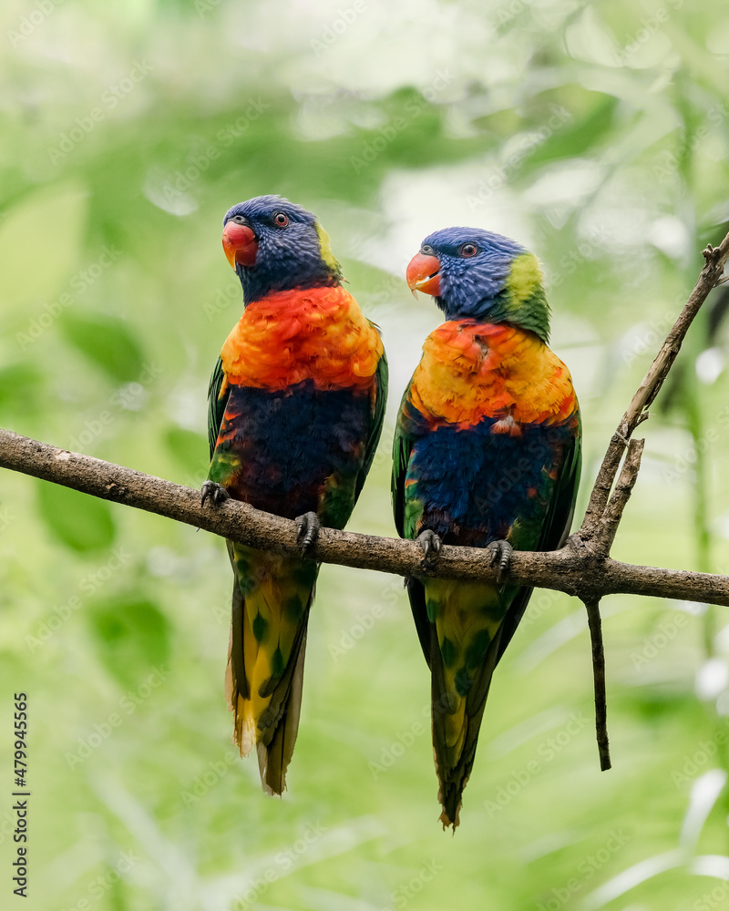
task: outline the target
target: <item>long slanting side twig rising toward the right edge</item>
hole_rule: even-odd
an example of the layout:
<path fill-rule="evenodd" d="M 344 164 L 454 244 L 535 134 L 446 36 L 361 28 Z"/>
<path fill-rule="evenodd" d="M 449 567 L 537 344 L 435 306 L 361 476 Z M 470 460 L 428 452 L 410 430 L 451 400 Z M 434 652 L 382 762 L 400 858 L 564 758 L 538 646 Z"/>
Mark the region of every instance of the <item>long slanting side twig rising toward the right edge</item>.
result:
<path fill-rule="evenodd" d="M 592 488 L 587 512 L 578 532 L 580 539 L 583 541 L 588 541 L 597 534 L 605 507 L 608 505 L 608 498 L 620 465 L 622 452 L 625 446 L 628 445 L 632 432 L 645 419 L 645 409 L 653 402 L 661 389 L 663 381 L 681 350 L 683 339 L 686 337 L 696 313 L 699 312 L 709 292 L 718 284 L 722 277 L 724 264 L 727 257 L 729 257 L 729 234 L 726 235 L 724 241 L 718 247 L 707 247 L 703 251 L 703 257 L 706 262 L 698 281 L 693 287 L 693 292 L 689 295 L 682 312 L 673 324 L 673 329 L 668 333 L 668 337 L 651 364 L 650 370 L 645 374 L 642 384 L 633 395 L 631 404 L 628 405 L 628 410 L 622 416 L 616 433 L 612 436 L 608 451 L 602 460 L 595 486 Z"/>

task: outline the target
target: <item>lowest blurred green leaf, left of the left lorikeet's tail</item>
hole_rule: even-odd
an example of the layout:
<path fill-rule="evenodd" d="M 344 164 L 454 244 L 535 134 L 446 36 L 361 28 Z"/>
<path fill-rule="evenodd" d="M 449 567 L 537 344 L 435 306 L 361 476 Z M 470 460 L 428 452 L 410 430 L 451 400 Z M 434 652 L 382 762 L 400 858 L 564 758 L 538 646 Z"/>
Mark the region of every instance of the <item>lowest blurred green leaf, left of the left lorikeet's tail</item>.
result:
<path fill-rule="evenodd" d="M 122 685 L 139 686 L 153 670 L 163 670 L 171 630 L 156 604 L 130 595 L 98 604 L 87 617 L 107 670 Z"/>

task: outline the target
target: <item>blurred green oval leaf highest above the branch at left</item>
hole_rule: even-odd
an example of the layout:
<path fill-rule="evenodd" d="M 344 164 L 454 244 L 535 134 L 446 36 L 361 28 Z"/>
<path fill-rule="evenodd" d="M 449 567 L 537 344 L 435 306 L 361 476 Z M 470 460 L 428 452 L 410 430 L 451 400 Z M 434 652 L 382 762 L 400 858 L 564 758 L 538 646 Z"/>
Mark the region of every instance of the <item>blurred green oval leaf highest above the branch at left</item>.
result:
<path fill-rule="evenodd" d="M 142 349 L 126 322 L 101 314 L 67 315 L 61 327 L 68 342 L 113 380 L 129 383 L 139 377 Z"/>

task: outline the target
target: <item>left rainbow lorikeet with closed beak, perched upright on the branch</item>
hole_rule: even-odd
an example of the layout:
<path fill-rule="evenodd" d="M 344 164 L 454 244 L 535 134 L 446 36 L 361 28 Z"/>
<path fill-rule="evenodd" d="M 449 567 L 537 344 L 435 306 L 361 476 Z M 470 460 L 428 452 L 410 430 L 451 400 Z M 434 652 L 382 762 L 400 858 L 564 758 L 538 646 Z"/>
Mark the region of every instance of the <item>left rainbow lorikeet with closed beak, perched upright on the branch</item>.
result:
<path fill-rule="evenodd" d="M 319 523 L 343 528 L 375 455 L 387 362 L 375 325 L 342 287 L 311 212 L 277 196 L 242 202 L 222 243 L 243 314 L 210 379 L 210 472 L 202 499 L 226 496 L 296 519 L 301 558 L 228 543 L 233 568 L 226 695 L 241 755 L 282 793 L 301 711 Z"/>

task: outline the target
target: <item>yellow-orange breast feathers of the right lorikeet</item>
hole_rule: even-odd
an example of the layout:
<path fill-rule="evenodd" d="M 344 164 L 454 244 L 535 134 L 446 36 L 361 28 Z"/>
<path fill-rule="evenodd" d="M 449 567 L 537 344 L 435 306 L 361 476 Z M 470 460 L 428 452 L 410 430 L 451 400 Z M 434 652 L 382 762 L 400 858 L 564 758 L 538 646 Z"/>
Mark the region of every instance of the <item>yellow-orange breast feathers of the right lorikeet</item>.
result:
<path fill-rule="evenodd" d="M 410 396 L 434 425 L 496 417 L 495 433 L 560 424 L 577 410 L 570 371 L 539 336 L 473 320 L 444 322 L 428 335 Z"/>

